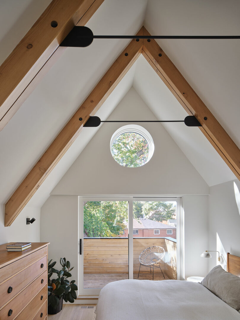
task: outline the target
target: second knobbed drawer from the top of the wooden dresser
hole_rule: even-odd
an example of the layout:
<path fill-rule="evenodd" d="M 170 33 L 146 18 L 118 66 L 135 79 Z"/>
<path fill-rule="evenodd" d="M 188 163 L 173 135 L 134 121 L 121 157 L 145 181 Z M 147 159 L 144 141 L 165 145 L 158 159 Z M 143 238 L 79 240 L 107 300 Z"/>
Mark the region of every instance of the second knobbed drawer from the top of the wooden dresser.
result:
<path fill-rule="evenodd" d="M 0 310 L 1 320 L 13 320 L 23 308 L 36 296 L 36 294 L 47 284 L 47 270 L 36 280 L 28 285 L 19 295 Z M 46 288 L 46 287 L 45 287 Z M 46 289 L 47 290 L 47 289 Z M 34 316 L 34 314 L 32 315 Z"/>

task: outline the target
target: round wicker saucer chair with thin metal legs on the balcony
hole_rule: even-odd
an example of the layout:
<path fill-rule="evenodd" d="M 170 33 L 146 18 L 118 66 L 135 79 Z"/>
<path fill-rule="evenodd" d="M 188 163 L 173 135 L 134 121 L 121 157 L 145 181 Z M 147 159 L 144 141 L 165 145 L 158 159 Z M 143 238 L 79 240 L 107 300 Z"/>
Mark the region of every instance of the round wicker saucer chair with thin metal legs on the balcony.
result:
<path fill-rule="evenodd" d="M 154 266 L 155 266 L 157 268 L 160 268 L 160 270 L 163 274 L 163 271 L 162 271 L 159 263 L 163 259 L 164 255 L 165 255 L 164 248 L 159 247 L 159 246 L 153 246 L 153 247 L 149 247 L 147 249 L 144 249 L 143 252 L 141 252 L 141 254 L 139 256 L 139 261 L 140 261 L 139 272 L 140 272 L 141 266 L 149 267 L 150 274 L 152 271 L 153 276 L 154 276 Z M 151 268 L 153 268 L 153 270 L 151 270 Z M 138 277 L 139 277 L 139 272 L 138 272 Z M 142 270 L 141 272 L 148 272 L 148 271 Z M 163 274 L 163 276 L 164 276 L 164 274 Z M 164 276 L 164 279 L 165 279 L 165 276 Z"/>

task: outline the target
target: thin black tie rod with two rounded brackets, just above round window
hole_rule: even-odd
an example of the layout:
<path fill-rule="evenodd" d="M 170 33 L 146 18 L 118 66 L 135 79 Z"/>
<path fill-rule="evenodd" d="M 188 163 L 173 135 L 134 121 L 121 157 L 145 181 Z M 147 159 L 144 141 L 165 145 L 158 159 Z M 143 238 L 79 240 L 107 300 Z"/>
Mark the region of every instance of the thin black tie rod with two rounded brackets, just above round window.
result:
<path fill-rule="evenodd" d="M 79 118 L 80 121 L 83 120 L 83 118 Z M 200 122 L 196 119 L 195 116 L 186 116 L 184 120 L 109 120 L 109 121 L 102 121 L 97 116 L 90 116 L 88 121 L 84 124 L 84 127 L 98 127 L 101 122 L 184 122 L 188 127 L 201 127 L 202 125 Z"/>

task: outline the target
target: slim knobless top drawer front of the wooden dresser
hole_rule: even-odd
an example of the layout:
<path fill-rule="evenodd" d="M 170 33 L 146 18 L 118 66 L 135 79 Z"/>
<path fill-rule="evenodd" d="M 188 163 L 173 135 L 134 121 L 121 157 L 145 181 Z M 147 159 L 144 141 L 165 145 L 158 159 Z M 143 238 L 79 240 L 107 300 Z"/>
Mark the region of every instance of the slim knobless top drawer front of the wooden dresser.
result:
<path fill-rule="evenodd" d="M 30 248 L 29 248 L 30 249 Z M 26 251 L 28 251 L 27 249 Z M 11 256 L 12 252 L 8 252 Z M 15 252 L 14 252 L 15 253 Z M 0 269 L 0 283 L 47 255 L 47 246 Z"/>

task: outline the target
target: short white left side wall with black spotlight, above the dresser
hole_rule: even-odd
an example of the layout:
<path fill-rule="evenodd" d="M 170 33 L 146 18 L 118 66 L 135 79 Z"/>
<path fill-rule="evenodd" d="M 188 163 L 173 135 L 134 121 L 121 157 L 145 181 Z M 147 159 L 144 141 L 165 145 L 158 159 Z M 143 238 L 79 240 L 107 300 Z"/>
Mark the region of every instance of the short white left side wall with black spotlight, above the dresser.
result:
<path fill-rule="evenodd" d="M 26 224 L 26 218 L 35 218 Z M 4 205 L 0 207 L 0 244 L 40 241 L 40 208 L 25 207 L 10 227 L 4 227 Z"/>

